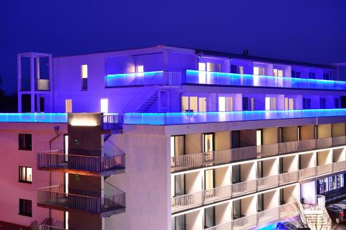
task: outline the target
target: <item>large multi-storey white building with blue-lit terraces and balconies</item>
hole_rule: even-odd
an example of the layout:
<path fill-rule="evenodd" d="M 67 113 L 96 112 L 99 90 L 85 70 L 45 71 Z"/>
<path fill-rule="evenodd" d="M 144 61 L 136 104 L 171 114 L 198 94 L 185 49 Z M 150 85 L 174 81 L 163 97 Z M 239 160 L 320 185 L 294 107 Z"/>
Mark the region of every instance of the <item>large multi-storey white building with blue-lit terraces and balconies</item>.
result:
<path fill-rule="evenodd" d="M 0 115 L 0 220 L 261 229 L 297 200 L 345 193 L 337 66 L 170 46 L 30 52 L 18 82 L 19 113 Z"/>

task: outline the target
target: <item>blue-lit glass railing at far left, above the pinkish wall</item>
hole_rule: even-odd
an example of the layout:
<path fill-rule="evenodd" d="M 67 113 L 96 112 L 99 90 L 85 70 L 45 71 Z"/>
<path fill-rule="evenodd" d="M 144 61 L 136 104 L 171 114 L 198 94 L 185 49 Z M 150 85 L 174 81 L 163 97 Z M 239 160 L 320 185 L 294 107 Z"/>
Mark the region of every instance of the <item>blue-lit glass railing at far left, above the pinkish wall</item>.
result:
<path fill-rule="evenodd" d="M 67 123 L 67 113 L 0 113 L 0 122 Z"/>

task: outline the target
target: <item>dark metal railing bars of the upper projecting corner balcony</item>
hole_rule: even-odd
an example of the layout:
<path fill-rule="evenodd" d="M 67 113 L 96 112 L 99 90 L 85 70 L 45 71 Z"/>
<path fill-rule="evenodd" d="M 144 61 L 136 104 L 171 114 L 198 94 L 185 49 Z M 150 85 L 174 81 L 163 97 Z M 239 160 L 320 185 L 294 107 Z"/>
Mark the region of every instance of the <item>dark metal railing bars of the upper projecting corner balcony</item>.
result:
<path fill-rule="evenodd" d="M 98 173 L 125 169 L 125 154 L 101 156 L 102 153 L 99 151 L 98 155 L 64 154 L 63 150 L 39 152 L 37 153 L 37 166 Z"/>

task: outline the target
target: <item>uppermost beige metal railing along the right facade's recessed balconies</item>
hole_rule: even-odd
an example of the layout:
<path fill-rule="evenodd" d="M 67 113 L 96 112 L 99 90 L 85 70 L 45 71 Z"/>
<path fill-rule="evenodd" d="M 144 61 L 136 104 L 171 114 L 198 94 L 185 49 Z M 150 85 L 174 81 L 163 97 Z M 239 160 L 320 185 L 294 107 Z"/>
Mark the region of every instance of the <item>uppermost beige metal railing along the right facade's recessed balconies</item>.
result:
<path fill-rule="evenodd" d="M 336 142 L 338 143 L 337 145 L 346 144 L 346 139 L 343 137 L 338 137 L 336 139 Z M 331 140 L 331 137 L 329 137 L 316 140 L 302 140 L 298 142 L 283 142 L 278 144 L 232 148 L 208 153 L 179 155 L 171 158 L 171 171 L 175 172 L 195 169 L 203 166 L 225 164 L 236 160 L 247 160 L 256 157 L 269 157 L 298 151 L 311 151 L 318 148 L 330 147 L 328 145 L 331 143 Z"/>

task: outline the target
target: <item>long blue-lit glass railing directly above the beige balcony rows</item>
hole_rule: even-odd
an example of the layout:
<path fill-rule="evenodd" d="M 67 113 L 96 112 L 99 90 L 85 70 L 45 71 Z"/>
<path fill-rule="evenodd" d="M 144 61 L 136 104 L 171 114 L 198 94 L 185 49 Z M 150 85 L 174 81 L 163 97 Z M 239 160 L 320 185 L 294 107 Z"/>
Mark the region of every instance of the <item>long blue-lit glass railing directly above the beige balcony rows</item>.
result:
<path fill-rule="evenodd" d="M 346 116 L 346 108 L 206 113 L 125 113 L 124 124 L 175 125 L 334 116 Z"/>

